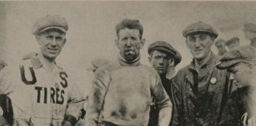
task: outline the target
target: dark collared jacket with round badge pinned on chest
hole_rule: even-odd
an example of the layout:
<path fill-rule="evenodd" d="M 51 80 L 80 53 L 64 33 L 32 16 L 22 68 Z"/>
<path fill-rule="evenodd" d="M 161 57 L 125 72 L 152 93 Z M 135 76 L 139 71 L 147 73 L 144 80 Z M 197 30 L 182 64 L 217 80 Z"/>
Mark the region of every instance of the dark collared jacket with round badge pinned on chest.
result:
<path fill-rule="evenodd" d="M 212 53 L 199 69 L 195 69 L 192 61 L 171 80 L 173 126 L 217 125 L 228 99 L 229 84 L 227 72 L 215 67 L 218 58 Z"/>

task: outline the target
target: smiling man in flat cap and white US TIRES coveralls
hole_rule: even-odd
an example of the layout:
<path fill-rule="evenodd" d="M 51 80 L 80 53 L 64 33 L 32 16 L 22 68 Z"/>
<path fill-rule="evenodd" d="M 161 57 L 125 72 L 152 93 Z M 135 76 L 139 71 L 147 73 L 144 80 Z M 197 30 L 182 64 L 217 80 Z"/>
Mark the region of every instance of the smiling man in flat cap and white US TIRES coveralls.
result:
<path fill-rule="evenodd" d="M 20 61 L 20 66 L 8 65 L 0 73 L 0 94 L 11 99 L 14 125 L 76 123 L 78 111 L 69 109 L 77 109 L 83 100 L 81 92 L 55 61 L 66 43 L 67 30 L 66 19 L 61 16 L 40 18 L 32 30 L 40 51 Z"/>

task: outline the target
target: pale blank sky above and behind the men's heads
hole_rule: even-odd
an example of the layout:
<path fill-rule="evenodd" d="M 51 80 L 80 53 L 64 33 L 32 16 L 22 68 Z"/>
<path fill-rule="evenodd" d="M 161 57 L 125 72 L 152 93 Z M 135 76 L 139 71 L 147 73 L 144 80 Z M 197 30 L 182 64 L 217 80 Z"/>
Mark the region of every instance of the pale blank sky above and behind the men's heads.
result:
<path fill-rule="evenodd" d="M 217 39 L 237 36 L 244 45 L 249 42 L 244 39 L 243 24 L 256 23 L 255 12 L 256 2 L 0 2 L 0 58 L 15 64 L 24 54 L 36 52 L 33 24 L 47 14 L 59 14 L 66 17 L 70 29 L 57 63 L 77 83 L 86 85 L 90 61 L 116 60 L 115 25 L 131 18 L 140 20 L 144 27 L 141 62 L 149 65 L 149 44 L 164 40 L 182 54 L 180 69 L 192 59 L 182 35 L 187 25 L 202 20 L 216 28 Z"/>

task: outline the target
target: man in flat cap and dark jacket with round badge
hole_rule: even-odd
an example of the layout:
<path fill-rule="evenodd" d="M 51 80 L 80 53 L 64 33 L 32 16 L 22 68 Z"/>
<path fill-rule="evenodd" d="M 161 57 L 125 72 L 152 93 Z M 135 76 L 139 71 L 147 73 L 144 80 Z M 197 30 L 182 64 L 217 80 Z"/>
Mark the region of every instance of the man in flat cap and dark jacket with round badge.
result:
<path fill-rule="evenodd" d="M 216 126 L 226 96 L 227 72 L 216 69 L 219 57 L 211 46 L 218 36 L 209 24 L 199 21 L 183 31 L 193 61 L 177 72 L 171 81 L 174 105 L 173 126 Z"/>

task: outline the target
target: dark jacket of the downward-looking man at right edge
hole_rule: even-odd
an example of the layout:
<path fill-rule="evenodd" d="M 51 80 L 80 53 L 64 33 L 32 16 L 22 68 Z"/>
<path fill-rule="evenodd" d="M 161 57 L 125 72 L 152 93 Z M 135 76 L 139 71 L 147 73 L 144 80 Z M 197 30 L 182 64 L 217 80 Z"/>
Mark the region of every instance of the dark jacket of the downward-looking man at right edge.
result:
<path fill-rule="evenodd" d="M 250 118 L 249 91 L 250 87 L 242 87 L 232 93 L 224 109 L 220 126 L 243 126 L 243 119 Z"/>

